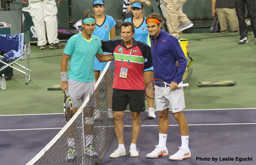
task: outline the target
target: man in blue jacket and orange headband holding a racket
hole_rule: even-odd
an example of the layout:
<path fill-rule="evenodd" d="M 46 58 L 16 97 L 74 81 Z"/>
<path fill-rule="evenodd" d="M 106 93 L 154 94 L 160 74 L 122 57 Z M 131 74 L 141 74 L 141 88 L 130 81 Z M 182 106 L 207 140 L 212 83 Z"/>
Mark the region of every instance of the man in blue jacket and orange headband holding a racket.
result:
<path fill-rule="evenodd" d="M 182 160 L 191 158 L 191 152 L 188 148 L 188 123 L 182 113 L 185 108 L 183 88 L 178 88 L 182 84 L 182 76 L 186 70 L 187 59 L 180 47 L 178 39 L 162 29 L 163 18 L 156 13 L 151 13 L 147 17 L 147 27 L 151 39 L 151 54 L 154 67 L 154 78 L 164 80 L 171 84 L 170 91 L 164 96 L 156 99 L 156 109 L 159 116 L 159 143 L 156 149 L 147 154 L 148 158 L 167 156 L 166 148 L 167 131 L 169 129 L 169 108 L 172 110 L 173 117 L 177 120 L 180 134 L 180 150 L 170 156 L 171 160 Z M 179 61 L 178 68 L 175 62 Z"/>

